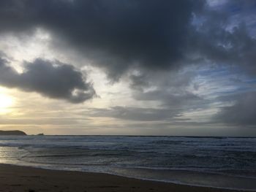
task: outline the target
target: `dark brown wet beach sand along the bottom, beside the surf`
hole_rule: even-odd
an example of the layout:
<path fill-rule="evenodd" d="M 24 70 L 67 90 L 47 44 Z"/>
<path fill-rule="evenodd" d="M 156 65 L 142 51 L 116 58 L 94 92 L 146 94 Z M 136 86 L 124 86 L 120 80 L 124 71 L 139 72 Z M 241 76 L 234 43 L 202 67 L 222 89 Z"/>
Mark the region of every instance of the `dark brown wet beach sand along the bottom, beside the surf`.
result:
<path fill-rule="evenodd" d="M 110 174 L 53 171 L 25 166 L 0 164 L 0 191 L 233 191 L 218 188 L 204 188 L 176 185 L 147 180 L 119 177 Z"/>

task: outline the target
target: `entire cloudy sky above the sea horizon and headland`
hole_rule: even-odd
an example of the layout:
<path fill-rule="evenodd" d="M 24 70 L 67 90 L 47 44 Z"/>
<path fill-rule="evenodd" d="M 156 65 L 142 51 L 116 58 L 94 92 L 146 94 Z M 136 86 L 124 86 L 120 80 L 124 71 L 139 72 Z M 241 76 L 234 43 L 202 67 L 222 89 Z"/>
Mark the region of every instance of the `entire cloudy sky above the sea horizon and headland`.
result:
<path fill-rule="evenodd" d="M 0 129 L 256 137 L 255 62 L 255 0 L 1 0 Z"/>

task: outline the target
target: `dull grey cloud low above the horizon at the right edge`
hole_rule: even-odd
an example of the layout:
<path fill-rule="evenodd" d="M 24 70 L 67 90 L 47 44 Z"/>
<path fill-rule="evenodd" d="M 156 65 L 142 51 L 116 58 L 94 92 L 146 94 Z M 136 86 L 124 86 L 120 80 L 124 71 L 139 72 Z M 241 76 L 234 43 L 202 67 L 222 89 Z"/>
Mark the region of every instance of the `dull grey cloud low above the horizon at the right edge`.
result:
<path fill-rule="evenodd" d="M 242 93 L 230 100 L 234 100 L 235 104 L 222 107 L 213 119 L 219 123 L 256 128 L 256 92 Z"/>

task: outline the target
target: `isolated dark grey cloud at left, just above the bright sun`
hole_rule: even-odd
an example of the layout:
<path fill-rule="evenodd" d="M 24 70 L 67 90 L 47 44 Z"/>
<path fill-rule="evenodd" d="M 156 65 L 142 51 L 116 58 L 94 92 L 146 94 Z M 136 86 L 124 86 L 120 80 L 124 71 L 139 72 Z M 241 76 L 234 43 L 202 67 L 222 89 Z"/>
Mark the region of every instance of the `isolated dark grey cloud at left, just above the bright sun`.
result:
<path fill-rule="evenodd" d="M 72 103 L 86 101 L 95 95 L 92 85 L 85 82 L 73 66 L 58 61 L 52 64 L 39 58 L 33 63 L 26 63 L 24 72 L 20 74 L 1 58 L 0 84 Z"/>

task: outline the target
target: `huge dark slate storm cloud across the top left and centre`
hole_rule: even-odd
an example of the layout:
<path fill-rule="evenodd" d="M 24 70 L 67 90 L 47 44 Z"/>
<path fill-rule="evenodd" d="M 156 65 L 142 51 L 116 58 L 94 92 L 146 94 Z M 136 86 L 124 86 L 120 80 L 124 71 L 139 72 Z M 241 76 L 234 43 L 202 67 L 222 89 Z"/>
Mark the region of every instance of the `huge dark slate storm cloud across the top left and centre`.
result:
<path fill-rule="evenodd" d="M 170 69 L 184 55 L 202 1 L 6 0 L 0 31 L 46 28 L 118 79 L 130 66 Z"/>

